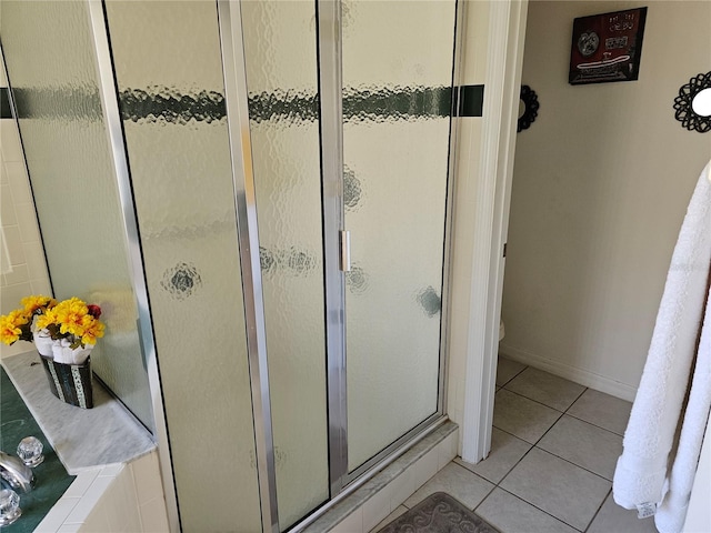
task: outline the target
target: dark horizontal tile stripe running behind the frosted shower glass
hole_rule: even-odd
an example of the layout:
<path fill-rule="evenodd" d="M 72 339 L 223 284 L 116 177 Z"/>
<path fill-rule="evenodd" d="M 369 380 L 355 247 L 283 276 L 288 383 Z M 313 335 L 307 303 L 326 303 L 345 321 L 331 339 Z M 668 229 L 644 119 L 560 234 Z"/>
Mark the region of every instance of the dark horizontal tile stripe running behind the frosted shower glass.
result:
<path fill-rule="evenodd" d="M 384 122 L 429 120 L 450 117 L 450 87 L 347 88 L 343 91 L 343 121 Z M 18 114 L 22 119 L 99 119 L 101 101 L 96 89 L 16 89 Z M 460 117 L 480 117 L 483 86 L 464 86 L 454 105 Z M 224 97 L 216 91 L 181 92 L 174 88 L 127 89 L 120 93 L 121 115 L 133 122 L 186 124 L 213 122 L 226 118 Z M 318 94 L 273 91 L 249 97 L 250 119 L 260 123 L 316 121 Z"/>

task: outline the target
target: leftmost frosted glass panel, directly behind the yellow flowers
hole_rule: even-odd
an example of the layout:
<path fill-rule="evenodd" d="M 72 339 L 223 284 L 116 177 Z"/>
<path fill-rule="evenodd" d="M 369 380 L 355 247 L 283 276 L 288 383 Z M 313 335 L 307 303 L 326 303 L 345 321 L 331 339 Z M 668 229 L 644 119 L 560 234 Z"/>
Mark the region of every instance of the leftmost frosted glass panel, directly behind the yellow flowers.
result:
<path fill-rule="evenodd" d="M 3 0 L 0 31 L 54 296 L 101 305 L 92 369 L 152 429 L 87 4 Z"/>

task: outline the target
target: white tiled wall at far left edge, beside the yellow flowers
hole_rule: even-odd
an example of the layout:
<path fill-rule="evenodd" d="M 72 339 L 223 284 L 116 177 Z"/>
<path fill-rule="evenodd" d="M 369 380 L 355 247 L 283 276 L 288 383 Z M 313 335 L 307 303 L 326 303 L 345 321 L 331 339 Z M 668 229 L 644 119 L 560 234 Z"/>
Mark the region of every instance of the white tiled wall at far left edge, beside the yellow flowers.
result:
<path fill-rule="evenodd" d="M 0 57 L 0 87 L 8 87 Z M 47 262 L 37 224 L 37 212 L 30 192 L 30 180 L 14 119 L 0 119 L 0 223 L 7 248 L 0 269 L 0 314 L 20 308 L 20 300 L 30 294 L 51 295 Z M 6 260 L 10 271 L 6 272 Z M 11 346 L 0 343 L 0 358 L 31 349 L 18 341 Z"/>

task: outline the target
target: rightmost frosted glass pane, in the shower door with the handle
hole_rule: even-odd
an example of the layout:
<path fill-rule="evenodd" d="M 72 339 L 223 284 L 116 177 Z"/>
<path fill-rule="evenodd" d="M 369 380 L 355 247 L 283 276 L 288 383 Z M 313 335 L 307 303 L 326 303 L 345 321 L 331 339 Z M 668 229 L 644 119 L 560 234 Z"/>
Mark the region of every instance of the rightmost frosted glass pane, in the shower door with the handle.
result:
<path fill-rule="evenodd" d="M 348 453 L 437 412 L 454 1 L 343 3 Z"/>

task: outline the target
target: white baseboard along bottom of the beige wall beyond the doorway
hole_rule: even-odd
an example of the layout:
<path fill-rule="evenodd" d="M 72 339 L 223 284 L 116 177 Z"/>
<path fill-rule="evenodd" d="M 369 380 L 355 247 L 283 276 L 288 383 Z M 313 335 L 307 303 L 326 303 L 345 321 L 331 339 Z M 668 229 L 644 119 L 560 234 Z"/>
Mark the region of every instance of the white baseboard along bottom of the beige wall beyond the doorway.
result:
<path fill-rule="evenodd" d="M 634 396 L 637 395 L 635 386 L 628 385 L 627 383 L 620 383 L 619 381 L 595 374 L 589 370 L 542 358 L 541 355 L 537 355 L 504 343 L 499 344 L 499 353 L 504 358 L 518 361 L 519 363 L 528 364 L 539 370 L 544 370 L 551 374 L 574 381 L 575 383 L 589 386 L 595 391 L 627 400 L 628 402 L 634 401 Z"/>

